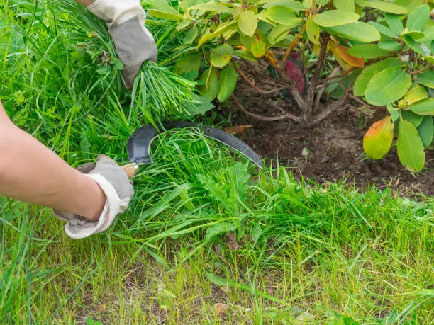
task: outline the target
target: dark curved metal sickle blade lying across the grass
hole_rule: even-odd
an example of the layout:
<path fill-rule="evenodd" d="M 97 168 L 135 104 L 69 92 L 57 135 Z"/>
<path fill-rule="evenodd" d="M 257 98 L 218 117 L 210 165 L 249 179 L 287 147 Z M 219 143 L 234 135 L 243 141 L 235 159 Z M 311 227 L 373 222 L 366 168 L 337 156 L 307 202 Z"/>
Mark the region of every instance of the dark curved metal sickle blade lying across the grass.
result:
<path fill-rule="evenodd" d="M 151 124 L 140 127 L 140 129 L 136 130 L 128 139 L 127 152 L 131 164 L 152 164 L 150 146 L 155 137 L 160 135 L 162 132 L 173 129 L 182 129 L 184 127 L 197 127 L 199 130 L 204 132 L 205 137 L 226 144 L 226 146 L 246 156 L 261 169 L 263 168 L 261 157 L 254 152 L 252 148 L 247 146 L 247 144 L 238 139 L 238 137 L 234 137 L 222 130 L 214 129 L 213 127 L 205 125 L 197 125 L 193 122 L 162 122 L 162 127 L 160 127 L 159 130 Z"/>

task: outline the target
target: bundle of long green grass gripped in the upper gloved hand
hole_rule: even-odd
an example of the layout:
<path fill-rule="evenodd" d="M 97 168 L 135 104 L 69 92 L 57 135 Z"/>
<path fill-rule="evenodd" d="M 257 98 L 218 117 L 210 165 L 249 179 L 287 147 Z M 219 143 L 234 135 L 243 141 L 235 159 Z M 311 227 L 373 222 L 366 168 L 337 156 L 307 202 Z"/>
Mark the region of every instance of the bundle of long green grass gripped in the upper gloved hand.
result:
<path fill-rule="evenodd" d="M 113 60 L 116 58 L 116 50 L 105 23 L 73 0 L 61 1 L 60 6 L 74 14 L 75 18 L 72 15 L 68 17 L 76 21 L 73 38 L 84 42 L 87 51 L 94 55 L 96 61 L 101 61 L 100 57 L 104 53 L 104 64 L 113 64 L 114 67 L 113 62 L 119 60 Z M 114 69 L 121 79 L 121 69 Z M 130 108 L 138 108 L 151 122 L 169 115 L 185 117 L 212 108 L 211 103 L 194 93 L 195 86 L 194 81 L 174 74 L 167 67 L 145 62 L 135 79 Z"/>

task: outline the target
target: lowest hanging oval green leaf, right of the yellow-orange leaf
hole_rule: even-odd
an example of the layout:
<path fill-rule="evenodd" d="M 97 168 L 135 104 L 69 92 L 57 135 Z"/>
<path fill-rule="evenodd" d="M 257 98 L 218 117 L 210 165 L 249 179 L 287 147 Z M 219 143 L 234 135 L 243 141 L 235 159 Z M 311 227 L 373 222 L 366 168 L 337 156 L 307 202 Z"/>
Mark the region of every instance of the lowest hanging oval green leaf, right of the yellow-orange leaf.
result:
<path fill-rule="evenodd" d="M 401 163 L 410 171 L 420 171 L 425 165 L 425 152 L 418 130 L 411 122 L 401 120 L 398 132 L 398 156 Z"/>

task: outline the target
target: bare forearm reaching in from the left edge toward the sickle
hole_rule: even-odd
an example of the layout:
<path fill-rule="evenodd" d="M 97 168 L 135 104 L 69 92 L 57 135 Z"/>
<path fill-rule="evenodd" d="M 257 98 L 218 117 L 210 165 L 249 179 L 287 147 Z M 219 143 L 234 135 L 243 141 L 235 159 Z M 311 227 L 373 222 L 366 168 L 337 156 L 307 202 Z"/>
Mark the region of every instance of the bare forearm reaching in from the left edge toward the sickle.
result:
<path fill-rule="evenodd" d="M 99 218 L 106 196 L 98 184 L 13 125 L 0 101 L 0 193 L 27 203 Z"/>

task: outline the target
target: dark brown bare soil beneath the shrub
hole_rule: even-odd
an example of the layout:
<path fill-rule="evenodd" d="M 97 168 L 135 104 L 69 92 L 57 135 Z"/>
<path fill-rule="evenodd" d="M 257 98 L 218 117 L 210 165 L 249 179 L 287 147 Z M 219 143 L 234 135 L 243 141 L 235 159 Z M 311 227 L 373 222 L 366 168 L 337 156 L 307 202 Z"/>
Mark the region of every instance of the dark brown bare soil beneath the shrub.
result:
<path fill-rule="evenodd" d="M 279 93 L 261 95 L 243 80 L 239 81 L 235 95 L 252 113 L 277 116 L 277 107 L 297 113 L 291 108 L 291 102 L 282 99 Z M 238 137 L 266 158 L 267 163 L 275 164 L 279 159 L 281 166 L 294 167 L 294 175 L 299 178 L 313 178 L 316 183 L 347 178 L 347 183 L 360 188 L 371 183 L 379 188 L 391 186 L 400 195 L 414 196 L 420 192 L 434 195 L 433 151 L 426 152 L 426 168 L 416 176 L 401 165 L 396 147 L 384 159 L 366 159 L 363 135 L 372 122 L 379 120 L 377 114 L 345 110 L 306 130 L 291 120 L 255 120 L 233 104 L 229 109 L 234 112 L 233 125 L 253 125 Z M 221 113 L 227 114 L 226 108 L 221 108 Z M 305 157 L 302 152 L 306 150 L 308 156 Z"/>

